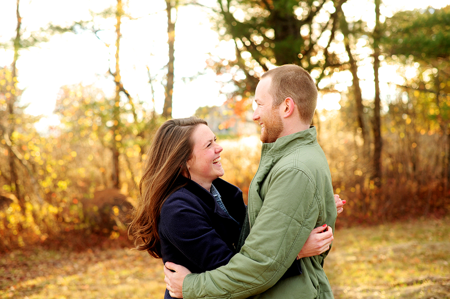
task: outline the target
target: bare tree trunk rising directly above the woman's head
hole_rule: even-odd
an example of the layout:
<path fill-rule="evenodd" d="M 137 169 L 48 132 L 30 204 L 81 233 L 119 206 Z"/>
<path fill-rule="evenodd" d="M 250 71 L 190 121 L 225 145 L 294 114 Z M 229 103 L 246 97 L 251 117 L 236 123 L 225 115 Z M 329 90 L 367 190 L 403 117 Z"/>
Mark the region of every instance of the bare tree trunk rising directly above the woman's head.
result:
<path fill-rule="evenodd" d="M 167 43 L 169 46 L 169 61 L 167 63 L 167 84 L 165 86 L 165 99 L 164 107 L 162 109 L 162 116 L 167 118 L 172 117 L 172 93 L 173 93 L 173 62 L 174 58 L 174 44 L 175 44 L 175 21 L 172 21 L 172 8 L 175 8 L 175 15 L 173 19 L 176 19 L 176 4 L 172 5 L 171 0 L 165 0 L 167 4 Z"/>

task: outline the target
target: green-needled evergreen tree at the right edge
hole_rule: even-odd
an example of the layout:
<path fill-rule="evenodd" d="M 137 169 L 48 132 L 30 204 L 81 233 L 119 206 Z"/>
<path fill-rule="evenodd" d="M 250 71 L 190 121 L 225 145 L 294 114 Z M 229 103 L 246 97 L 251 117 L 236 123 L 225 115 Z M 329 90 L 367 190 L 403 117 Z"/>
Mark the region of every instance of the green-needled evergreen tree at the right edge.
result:
<path fill-rule="evenodd" d="M 418 63 L 421 73 L 415 81 L 406 81 L 402 87 L 417 99 L 429 99 L 433 103 L 421 103 L 429 107 L 429 121 L 436 123 L 445 136 L 447 147 L 442 156 L 442 178 L 446 192 L 450 181 L 450 5 L 440 9 L 428 7 L 400 11 L 386 19 L 382 46 L 388 55 L 405 63 L 411 57 Z M 432 79 L 430 79 L 432 77 Z M 427 96 L 420 97 L 422 93 Z M 432 111 L 432 112 L 431 112 Z"/>

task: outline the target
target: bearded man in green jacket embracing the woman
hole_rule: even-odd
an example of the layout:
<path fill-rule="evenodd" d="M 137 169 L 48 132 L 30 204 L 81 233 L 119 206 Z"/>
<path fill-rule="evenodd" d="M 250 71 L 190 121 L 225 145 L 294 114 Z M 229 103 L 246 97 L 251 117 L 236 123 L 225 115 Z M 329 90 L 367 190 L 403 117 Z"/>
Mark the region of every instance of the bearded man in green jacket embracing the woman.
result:
<path fill-rule="evenodd" d="M 317 89 L 304 69 L 283 65 L 261 76 L 255 102 L 263 144 L 248 192 L 245 243 L 227 265 L 206 273 L 166 263 L 176 271 L 164 269 L 172 297 L 181 298 L 182 285 L 185 299 L 333 298 L 322 269 L 329 250 L 296 260 L 312 229 L 334 230 L 337 216 L 328 164 L 310 127 Z"/>

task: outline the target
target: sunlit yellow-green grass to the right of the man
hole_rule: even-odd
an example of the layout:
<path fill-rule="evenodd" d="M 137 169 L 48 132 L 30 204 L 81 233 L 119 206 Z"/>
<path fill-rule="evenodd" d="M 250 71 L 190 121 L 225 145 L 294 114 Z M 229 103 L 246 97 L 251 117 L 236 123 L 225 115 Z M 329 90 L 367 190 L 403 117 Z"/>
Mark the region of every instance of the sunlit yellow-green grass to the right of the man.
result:
<path fill-rule="evenodd" d="M 336 299 L 450 299 L 450 218 L 340 229 L 325 260 Z"/>

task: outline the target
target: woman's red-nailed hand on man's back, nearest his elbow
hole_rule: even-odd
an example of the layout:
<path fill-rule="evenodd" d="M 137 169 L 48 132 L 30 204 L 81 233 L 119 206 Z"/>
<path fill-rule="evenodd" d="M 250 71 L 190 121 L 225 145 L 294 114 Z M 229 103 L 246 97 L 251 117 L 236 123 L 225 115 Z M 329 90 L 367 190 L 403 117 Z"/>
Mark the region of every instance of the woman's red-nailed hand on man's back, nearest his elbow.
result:
<path fill-rule="evenodd" d="M 316 227 L 309 234 L 308 239 L 297 255 L 297 259 L 318 256 L 324 253 L 329 249 L 332 241 L 333 230 L 330 226 L 324 224 L 323 226 Z"/>

